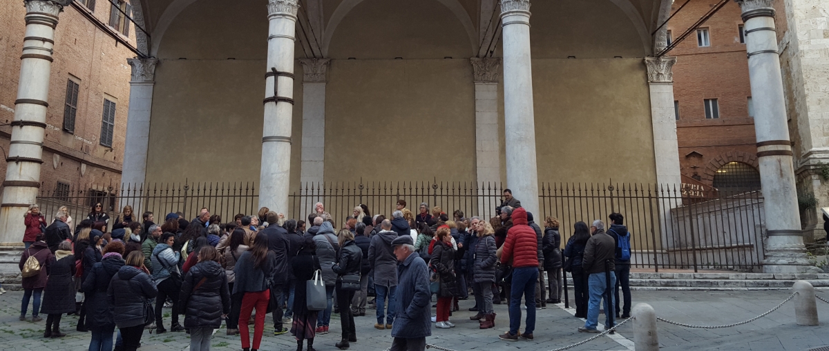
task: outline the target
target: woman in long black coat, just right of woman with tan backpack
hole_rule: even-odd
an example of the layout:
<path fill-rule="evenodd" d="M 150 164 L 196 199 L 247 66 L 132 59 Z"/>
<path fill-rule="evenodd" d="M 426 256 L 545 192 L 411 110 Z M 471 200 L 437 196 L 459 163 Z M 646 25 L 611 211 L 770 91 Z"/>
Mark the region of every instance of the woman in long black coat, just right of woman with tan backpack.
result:
<path fill-rule="evenodd" d="M 49 278 L 43 290 L 41 312 L 46 316 L 44 338 L 63 338 L 61 333 L 61 315 L 75 311 L 75 256 L 72 255 L 72 243 L 61 242 L 51 258 L 51 267 L 47 270 Z"/>

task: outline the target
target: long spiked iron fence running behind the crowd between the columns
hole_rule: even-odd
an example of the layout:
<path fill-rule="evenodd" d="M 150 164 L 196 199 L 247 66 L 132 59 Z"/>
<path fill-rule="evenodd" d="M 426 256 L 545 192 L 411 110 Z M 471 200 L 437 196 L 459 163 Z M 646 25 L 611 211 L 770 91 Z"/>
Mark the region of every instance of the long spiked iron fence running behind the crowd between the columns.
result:
<path fill-rule="evenodd" d="M 405 200 L 414 215 L 425 203 L 429 212 L 437 206 L 450 219 L 455 210 L 465 217 L 488 219 L 496 215 L 502 190 L 497 183 L 439 181 L 308 184 L 288 195 L 285 215 L 307 219 L 320 202 L 337 226 L 342 226 L 359 204 L 365 204 L 371 214 L 390 217 L 398 201 Z M 66 206 L 75 224 L 86 218 L 95 202 L 104 203 L 113 219 L 110 223 L 124 205 L 133 207 L 135 220 L 144 211 L 153 212 L 156 223 L 171 212 L 192 219 L 201 208 L 221 215 L 224 222 L 232 221 L 235 214 L 259 211 L 254 182 L 58 188 L 41 190 L 38 202 L 47 218 Z M 589 226 L 601 219 L 608 224 L 609 214 L 623 214 L 632 234 L 632 265 L 637 268 L 754 272 L 764 259 L 764 207 L 759 191 L 730 193 L 698 185 L 668 189 L 641 184 L 544 183 L 539 203 L 536 223 L 543 227 L 547 217 L 558 219 L 562 249 L 576 222 Z"/>

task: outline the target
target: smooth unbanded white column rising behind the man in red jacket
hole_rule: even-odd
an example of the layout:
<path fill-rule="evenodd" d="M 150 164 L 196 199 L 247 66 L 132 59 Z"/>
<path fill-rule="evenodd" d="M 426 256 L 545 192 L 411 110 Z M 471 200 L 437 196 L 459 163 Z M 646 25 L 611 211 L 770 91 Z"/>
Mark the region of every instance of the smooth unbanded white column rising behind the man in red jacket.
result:
<path fill-rule="evenodd" d="M 536 124 L 532 105 L 530 0 L 501 2 L 504 55 L 504 129 L 507 187 L 521 205 L 538 212 Z"/>

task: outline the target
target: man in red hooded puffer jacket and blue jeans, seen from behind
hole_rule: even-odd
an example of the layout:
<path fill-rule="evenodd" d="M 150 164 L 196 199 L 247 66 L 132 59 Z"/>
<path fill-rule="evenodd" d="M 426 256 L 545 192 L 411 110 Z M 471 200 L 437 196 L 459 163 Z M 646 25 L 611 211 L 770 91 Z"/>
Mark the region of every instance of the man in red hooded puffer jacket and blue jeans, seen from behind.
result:
<path fill-rule="evenodd" d="M 536 329 L 536 280 L 538 280 L 538 238 L 536 231 L 527 225 L 526 210 L 512 211 L 512 228 L 507 232 L 501 254 L 501 263 L 512 261 L 512 290 L 510 293 L 510 331 L 498 338 L 516 341 L 518 337 L 532 339 Z M 521 327 L 521 295 L 526 304 L 526 329 Z"/>

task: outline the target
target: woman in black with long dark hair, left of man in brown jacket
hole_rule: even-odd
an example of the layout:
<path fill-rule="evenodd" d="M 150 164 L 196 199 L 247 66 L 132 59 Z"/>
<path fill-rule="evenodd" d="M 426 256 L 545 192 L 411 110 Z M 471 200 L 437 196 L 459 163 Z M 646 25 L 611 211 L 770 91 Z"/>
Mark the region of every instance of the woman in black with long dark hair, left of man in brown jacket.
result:
<path fill-rule="evenodd" d="M 584 247 L 590 238 L 590 229 L 584 222 L 578 222 L 573 226 L 573 236 L 567 241 L 564 255 L 568 258 L 567 272 L 573 273 L 573 299 L 575 301 L 575 317 L 587 318 L 587 301 L 589 290 L 587 287 L 587 275 L 581 267 L 581 260 L 584 258 Z"/>

